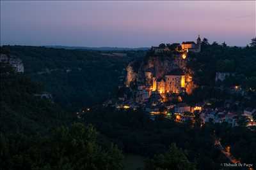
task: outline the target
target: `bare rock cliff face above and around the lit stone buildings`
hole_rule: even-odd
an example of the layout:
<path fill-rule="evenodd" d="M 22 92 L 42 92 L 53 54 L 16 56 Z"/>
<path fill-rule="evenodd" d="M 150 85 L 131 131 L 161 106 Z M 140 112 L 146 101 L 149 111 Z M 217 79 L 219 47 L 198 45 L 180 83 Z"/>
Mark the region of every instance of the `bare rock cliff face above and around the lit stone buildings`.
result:
<path fill-rule="evenodd" d="M 152 85 L 152 78 L 161 79 L 174 69 L 182 69 L 186 76 L 186 92 L 191 94 L 195 85 L 192 81 L 192 71 L 186 67 L 188 58 L 182 58 L 184 53 L 152 53 L 148 52 L 141 62 L 131 62 L 127 70 L 126 86 L 131 83 L 137 85 Z"/>

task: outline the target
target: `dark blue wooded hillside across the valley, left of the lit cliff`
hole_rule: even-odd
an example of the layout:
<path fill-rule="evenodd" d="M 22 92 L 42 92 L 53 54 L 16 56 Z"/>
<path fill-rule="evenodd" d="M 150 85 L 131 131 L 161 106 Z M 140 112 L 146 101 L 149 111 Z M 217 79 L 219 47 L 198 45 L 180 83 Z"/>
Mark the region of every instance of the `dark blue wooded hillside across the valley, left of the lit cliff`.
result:
<path fill-rule="evenodd" d="M 24 63 L 24 74 L 44 85 L 54 102 L 77 111 L 114 95 L 130 60 L 146 51 L 98 52 L 42 46 L 6 46 Z"/>

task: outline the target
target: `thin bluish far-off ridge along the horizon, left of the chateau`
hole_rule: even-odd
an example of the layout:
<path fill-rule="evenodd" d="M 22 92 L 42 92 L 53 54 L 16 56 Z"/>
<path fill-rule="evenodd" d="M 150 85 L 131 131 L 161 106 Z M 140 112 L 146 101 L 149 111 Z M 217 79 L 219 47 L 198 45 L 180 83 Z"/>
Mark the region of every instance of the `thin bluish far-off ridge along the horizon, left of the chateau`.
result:
<path fill-rule="evenodd" d="M 149 47 L 140 47 L 140 48 L 121 48 L 121 47 L 88 47 L 88 46 L 61 46 L 61 45 L 52 45 L 45 46 L 50 48 L 63 48 L 67 50 L 95 50 L 95 51 L 138 51 L 138 50 L 149 50 Z"/>

